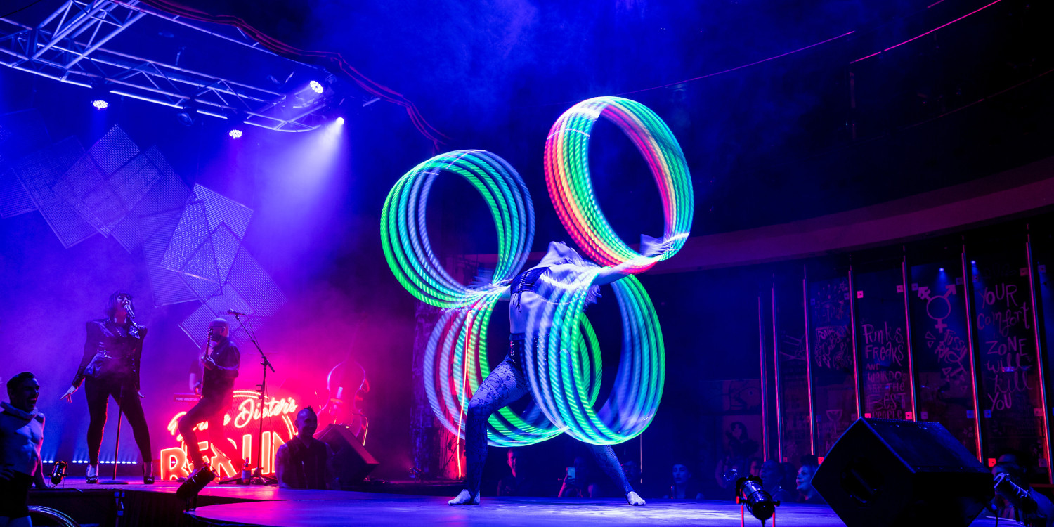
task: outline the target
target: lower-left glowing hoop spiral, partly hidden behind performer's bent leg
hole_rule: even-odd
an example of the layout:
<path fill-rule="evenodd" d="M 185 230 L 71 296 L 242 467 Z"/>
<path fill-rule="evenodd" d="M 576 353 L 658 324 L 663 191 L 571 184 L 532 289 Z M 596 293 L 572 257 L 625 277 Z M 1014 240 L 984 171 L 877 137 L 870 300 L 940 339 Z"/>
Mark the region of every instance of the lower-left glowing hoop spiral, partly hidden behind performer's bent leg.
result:
<path fill-rule="evenodd" d="M 470 396 L 490 374 L 487 363 L 487 325 L 497 302 L 500 291 L 487 294 L 466 308 L 449 309 L 440 317 L 429 337 L 423 370 L 425 393 L 432 413 L 453 434 L 464 437 L 465 410 Z M 582 370 L 589 372 L 586 398 L 597 399 L 601 383 L 601 356 L 597 335 L 582 315 L 570 332 L 575 356 Z M 467 367 L 467 371 L 466 371 Z M 536 406 L 523 415 L 508 407 L 490 416 L 487 423 L 488 444 L 497 447 L 526 446 L 560 435 L 564 430 L 553 426 Z"/>

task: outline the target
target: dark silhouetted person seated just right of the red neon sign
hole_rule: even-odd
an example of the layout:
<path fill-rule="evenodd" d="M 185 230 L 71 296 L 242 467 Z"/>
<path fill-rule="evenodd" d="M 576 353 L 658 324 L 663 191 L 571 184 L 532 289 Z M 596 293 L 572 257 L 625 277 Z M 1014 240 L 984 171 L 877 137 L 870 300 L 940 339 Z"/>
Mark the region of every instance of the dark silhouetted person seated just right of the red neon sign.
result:
<path fill-rule="evenodd" d="M 274 468 L 284 489 L 337 490 L 333 480 L 333 450 L 314 437 L 318 416 L 309 406 L 296 414 L 296 437 L 278 447 Z"/>

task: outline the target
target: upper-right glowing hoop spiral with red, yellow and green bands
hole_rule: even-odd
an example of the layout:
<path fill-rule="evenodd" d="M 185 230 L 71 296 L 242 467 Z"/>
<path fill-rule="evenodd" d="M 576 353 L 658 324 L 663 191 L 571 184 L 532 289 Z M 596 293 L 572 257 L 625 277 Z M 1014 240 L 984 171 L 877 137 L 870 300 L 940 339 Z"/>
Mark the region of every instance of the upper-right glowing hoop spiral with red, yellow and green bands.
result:
<path fill-rule="evenodd" d="M 663 238 L 670 240 L 671 247 L 653 259 L 640 260 L 641 255 L 614 234 L 597 203 L 589 178 L 589 134 L 600 117 L 613 122 L 633 141 L 659 187 Z M 642 264 L 629 266 L 628 271 L 646 271 L 677 253 L 691 228 L 691 177 L 681 145 L 655 112 L 629 99 L 596 97 L 564 112 L 545 142 L 545 183 L 564 228 L 602 266 L 638 259 Z"/>

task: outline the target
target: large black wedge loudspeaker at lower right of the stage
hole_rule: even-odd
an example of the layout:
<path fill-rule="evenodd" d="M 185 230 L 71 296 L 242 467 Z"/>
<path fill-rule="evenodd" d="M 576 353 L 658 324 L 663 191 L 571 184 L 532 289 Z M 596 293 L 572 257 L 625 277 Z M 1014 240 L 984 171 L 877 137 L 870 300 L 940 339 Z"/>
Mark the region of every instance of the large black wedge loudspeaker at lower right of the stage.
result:
<path fill-rule="evenodd" d="M 962 526 L 992 501 L 992 473 L 938 423 L 857 419 L 813 487 L 847 527 Z"/>

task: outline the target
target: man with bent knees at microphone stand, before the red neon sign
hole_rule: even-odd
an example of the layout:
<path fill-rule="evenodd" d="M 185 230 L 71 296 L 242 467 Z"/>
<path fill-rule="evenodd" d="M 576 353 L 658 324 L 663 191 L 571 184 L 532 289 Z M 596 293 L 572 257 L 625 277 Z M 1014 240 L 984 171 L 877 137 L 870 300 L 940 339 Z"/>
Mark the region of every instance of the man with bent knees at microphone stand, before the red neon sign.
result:
<path fill-rule="evenodd" d="M 200 357 L 203 369 L 201 379 L 198 380 L 196 370 L 191 373 L 191 389 L 201 394 L 201 401 L 180 417 L 179 433 L 183 435 L 187 454 L 195 469 L 204 466 L 194 433 L 194 427 L 199 423 L 209 423 L 209 444 L 213 451 L 218 451 L 228 460 L 241 458 L 238 448 L 223 433 L 223 414 L 234 401 L 234 379 L 238 376 L 241 360 L 238 347 L 228 338 L 230 332 L 230 325 L 222 318 L 209 323 L 209 339 Z"/>

